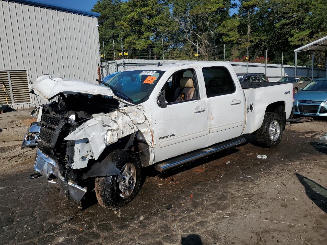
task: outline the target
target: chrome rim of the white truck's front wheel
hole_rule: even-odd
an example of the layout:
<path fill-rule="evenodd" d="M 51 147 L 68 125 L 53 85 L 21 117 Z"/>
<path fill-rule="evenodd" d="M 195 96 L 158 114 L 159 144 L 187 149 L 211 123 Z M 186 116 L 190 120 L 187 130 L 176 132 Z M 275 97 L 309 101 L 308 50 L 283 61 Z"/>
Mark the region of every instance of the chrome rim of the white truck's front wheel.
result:
<path fill-rule="evenodd" d="M 128 198 L 132 194 L 136 183 L 136 168 L 134 164 L 129 162 L 124 165 L 120 171 L 118 183 L 118 188 L 121 191 L 119 195 L 124 199 Z"/>

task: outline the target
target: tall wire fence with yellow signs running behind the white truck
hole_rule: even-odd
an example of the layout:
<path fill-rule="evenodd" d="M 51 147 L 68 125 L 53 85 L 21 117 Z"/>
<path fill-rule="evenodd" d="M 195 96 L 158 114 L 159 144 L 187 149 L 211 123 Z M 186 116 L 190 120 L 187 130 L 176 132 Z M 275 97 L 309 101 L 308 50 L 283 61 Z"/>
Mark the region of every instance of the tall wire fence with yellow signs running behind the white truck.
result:
<path fill-rule="evenodd" d="M 213 60 L 246 62 L 259 64 L 279 64 L 295 65 L 295 52 L 293 50 L 270 51 L 260 50 L 236 45 L 209 44 L 199 42 L 178 42 L 164 40 L 125 40 L 109 39 L 99 42 L 99 52 L 101 63 L 105 64 L 104 72 L 106 75 L 118 71 L 117 62 L 108 63 L 107 61 L 122 60 L 132 63 L 132 60 L 158 60 L 164 63 L 165 60 Z M 311 67 L 311 53 L 298 53 L 297 65 Z M 109 67 L 110 66 L 110 67 Z M 316 52 L 314 57 L 314 67 L 326 68 L 325 52 Z M 248 71 L 248 70 L 247 70 Z"/>

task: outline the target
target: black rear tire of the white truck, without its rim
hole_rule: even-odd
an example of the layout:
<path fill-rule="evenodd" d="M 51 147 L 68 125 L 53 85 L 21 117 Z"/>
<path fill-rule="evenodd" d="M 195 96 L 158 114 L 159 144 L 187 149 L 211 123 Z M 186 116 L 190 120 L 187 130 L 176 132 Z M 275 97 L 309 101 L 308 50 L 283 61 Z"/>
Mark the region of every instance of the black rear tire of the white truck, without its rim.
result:
<path fill-rule="evenodd" d="M 273 120 L 276 120 L 279 123 L 280 133 L 276 140 L 272 140 L 269 134 L 269 126 Z M 258 129 L 256 137 L 258 142 L 266 147 L 273 148 L 278 146 L 283 138 L 283 120 L 281 116 L 276 112 L 266 112 L 264 121 Z"/>

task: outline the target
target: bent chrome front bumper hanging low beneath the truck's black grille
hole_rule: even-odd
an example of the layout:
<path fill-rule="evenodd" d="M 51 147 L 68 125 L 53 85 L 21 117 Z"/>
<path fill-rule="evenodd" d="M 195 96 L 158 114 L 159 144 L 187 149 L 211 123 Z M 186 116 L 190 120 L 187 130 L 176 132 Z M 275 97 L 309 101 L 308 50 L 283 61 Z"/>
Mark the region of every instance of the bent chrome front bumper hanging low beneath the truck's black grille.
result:
<path fill-rule="evenodd" d="M 71 201 L 78 204 L 85 195 L 87 188 L 63 177 L 58 163 L 37 149 L 34 170 L 39 172 L 48 182 L 57 185 Z"/>

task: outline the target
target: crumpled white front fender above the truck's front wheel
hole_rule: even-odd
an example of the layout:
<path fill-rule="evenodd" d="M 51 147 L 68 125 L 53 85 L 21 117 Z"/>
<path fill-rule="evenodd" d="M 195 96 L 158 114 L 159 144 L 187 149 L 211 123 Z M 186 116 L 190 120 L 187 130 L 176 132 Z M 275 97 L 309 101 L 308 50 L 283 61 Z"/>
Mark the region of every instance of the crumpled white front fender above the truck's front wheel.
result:
<path fill-rule="evenodd" d="M 152 131 L 141 106 L 127 106 L 90 119 L 65 140 L 88 138 L 96 160 L 108 145 L 136 131 L 142 132 L 149 145 L 151 164 L 154 160 Z"/>

